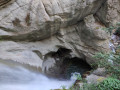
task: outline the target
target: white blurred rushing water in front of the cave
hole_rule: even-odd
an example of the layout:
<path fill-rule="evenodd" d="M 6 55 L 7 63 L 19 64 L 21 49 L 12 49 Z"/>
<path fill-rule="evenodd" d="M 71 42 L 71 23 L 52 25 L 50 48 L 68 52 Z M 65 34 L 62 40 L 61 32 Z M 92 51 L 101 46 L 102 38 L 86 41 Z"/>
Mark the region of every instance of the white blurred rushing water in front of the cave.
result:
<path fill-rule="evenodd" d="M 39 72 L 21 66 L 9 67 L 0 64 L 0 90 L 50 90 L 61 86 L 69 88 L 75 80 L 50 79 Z"/>

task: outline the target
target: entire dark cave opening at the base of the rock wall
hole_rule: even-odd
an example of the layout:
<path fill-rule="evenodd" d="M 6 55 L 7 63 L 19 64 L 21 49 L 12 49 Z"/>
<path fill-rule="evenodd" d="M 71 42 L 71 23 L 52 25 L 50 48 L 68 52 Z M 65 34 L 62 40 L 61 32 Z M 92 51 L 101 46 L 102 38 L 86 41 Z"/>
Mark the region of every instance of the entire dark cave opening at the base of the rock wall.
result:
<path fill-rule="evenodd" d="M 49 76 L 58 79 L 70 79 L 71 73 L 77 72 L 81 76 L 92 68 L 85 59 L 72 57 L 71 50 L 59 48 L 57 52 L 52 52 L 51 57 L 55 60 L 54 67 L 50 68 Z"/>

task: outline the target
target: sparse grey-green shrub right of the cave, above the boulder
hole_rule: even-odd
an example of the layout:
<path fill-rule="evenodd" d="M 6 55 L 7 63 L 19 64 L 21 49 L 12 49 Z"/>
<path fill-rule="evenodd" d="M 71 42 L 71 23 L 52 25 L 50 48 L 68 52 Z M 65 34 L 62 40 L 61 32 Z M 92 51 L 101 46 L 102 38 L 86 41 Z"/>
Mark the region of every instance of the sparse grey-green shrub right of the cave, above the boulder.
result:
<path fill-rule="evenodd" d="M 94 56 L 97 60 L 95 66 L 106 68 L 106 73 L 113 78 L 120 79 L 120 54 L 98 53 Z"/>

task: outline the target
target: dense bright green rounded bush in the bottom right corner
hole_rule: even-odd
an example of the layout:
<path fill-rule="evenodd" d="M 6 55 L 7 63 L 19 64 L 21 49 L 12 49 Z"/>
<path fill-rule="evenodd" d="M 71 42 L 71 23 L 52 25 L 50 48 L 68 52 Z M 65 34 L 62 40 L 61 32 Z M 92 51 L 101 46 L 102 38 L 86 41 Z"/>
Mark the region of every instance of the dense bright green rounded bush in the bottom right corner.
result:
<path fill-rule="evenodd" d="M 120 80 L 107 78 L 97 85 L 97 90 L 120 90 Z"/>

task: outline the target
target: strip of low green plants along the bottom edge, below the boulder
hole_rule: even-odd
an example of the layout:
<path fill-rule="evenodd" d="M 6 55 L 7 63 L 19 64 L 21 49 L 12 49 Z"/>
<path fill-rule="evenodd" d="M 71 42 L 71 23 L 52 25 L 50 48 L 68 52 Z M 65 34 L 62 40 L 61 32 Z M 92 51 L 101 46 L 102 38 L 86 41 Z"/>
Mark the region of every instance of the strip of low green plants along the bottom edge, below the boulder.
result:
<path fill-rule="evenodd" d="M 120 90 L 120 80 L 107 78 L 98 84 L 84 83 L 82 87 L 72 87 L 69 90 Z"/>

